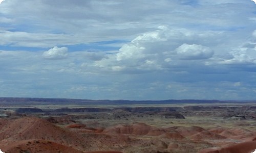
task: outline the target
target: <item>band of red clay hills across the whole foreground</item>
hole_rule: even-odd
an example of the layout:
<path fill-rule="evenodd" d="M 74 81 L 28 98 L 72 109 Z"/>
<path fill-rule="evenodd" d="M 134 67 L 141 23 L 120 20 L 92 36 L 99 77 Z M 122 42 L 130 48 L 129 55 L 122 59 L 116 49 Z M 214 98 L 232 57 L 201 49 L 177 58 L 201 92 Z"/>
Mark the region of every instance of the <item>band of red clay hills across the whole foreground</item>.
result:
<path fill-rule="evenodd" d="M 144 152 L 152 152 L 154 149 L 155 152 L 196 152 L 201 148 L 214 146 L 218 148 L 204 149 L 200 153 L 240 153 L 255 150 L 256 141 L 252 140 L 256 140 L 256 133 L 242 128 L 158 128 L 145 123 L 134 123 L 103 130 L 74 123 L 61 128 L 47 120 L 34 117 L 0 118 L 0 148 L 7 153 L 26 150 L 31 153 L 120 153 L 115 150 L 136 150 L 137 147 Z M 136 152 L 134 150 L 130 152 Z"/>

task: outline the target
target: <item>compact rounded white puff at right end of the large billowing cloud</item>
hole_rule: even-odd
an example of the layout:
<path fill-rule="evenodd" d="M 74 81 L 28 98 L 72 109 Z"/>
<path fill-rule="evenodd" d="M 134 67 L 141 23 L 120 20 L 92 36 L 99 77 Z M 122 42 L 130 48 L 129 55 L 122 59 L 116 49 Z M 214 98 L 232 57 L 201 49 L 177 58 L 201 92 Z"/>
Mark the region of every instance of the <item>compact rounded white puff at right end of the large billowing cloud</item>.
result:
<path fill-rule="evenodd" d="M 186 43 L 176 48 L 176 52 L 182 60 L 202 60 L 214 55 L 214 52 L 209 47 Z"/>

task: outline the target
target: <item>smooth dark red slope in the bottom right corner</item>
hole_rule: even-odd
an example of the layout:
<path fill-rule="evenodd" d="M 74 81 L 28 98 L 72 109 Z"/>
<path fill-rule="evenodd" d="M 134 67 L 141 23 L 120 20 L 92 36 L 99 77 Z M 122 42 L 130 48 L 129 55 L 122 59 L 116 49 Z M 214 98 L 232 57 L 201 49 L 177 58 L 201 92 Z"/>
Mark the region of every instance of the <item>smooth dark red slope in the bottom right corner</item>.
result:
<path fill-rule="evenodd" d="M 251 153 L 256 149 L 256 141 L 242 142 L 220 149 L 204 149 L 199 153 Z"/>

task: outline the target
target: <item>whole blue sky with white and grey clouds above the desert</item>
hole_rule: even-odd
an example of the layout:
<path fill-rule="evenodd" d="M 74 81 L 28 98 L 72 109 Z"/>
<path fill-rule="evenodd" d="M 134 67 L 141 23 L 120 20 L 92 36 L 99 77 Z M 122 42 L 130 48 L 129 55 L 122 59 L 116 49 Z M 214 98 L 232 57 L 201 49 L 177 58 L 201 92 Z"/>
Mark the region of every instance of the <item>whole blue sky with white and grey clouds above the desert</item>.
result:
<path fill-rule="evenodd" d="M 251 0 L 5 0 L 0 97 L 255 99 Z"/>

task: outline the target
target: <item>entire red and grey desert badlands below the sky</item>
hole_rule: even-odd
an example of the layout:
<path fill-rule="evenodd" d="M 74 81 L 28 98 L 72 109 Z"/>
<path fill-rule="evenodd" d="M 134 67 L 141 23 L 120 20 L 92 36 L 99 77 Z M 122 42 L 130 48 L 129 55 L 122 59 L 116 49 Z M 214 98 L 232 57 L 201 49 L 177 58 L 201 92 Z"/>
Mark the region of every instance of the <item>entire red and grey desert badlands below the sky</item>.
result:
<path fill-rule="evenodd" d="M 0 98 L 0 105 L 5 153 L 256 149 L 254 101 Z"/>

